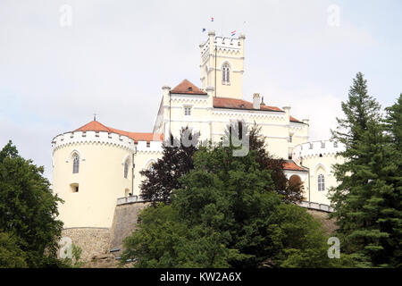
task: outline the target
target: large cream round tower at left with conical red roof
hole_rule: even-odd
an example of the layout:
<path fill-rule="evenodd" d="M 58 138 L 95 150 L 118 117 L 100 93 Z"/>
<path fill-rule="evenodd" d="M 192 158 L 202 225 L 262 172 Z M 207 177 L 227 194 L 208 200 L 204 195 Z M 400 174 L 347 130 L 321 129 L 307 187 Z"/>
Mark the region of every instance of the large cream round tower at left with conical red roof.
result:
<path fill-rule="evenodd" d="M 99 122 L 88 124 L 52 141 L 53 188 L 64 200 L 64 228 L 109 228 L 116 199 L 133 190 L 134 139 Z"/>

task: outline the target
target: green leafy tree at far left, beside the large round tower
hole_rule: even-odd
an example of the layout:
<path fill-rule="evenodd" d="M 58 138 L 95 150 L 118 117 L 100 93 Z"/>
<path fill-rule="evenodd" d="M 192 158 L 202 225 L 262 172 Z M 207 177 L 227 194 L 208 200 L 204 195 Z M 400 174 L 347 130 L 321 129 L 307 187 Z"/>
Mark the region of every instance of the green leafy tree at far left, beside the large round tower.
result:
<path fill-rule="evenodd" d="M 14 238 L 29 267 L 58 263 L 63 223 L 55 217 L 62 200 L 53 194 L 43 172 L 43 167 L 19 156 L 11 141 L 0 151 L 0 232 Z"/>

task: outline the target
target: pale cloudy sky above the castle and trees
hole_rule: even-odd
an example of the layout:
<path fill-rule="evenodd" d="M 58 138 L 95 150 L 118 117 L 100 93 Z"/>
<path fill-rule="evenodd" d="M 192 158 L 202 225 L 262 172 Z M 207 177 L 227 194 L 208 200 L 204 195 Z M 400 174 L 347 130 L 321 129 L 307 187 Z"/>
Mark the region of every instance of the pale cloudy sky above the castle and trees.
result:
<path fill-rule="evenodd" d="M 289 105 L 330 139 L 356 72 L 382 107 L 402 92 L 401 13 L 400 0 L 0 0 L 0 148 L 13 140 L 51 180 L 52 139 L 93 114 L 151 132 L 163 85 L 201 86 L 209 29 L 246 35 L 243 99 Z"/>

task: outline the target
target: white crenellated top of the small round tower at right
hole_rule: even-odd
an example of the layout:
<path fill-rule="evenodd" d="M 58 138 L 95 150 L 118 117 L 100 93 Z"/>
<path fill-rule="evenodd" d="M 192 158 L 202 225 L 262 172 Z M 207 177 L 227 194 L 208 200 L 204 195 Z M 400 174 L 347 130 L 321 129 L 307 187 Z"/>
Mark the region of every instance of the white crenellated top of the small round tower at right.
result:
<path fill-rule="evenodd" d="M 292 158 L 295 162 L 300 162 L 302 158 L 309 156 L 335 156 L 344 150 L 344 145 L 330 140 L 306 142 L 293 148 Z"/>

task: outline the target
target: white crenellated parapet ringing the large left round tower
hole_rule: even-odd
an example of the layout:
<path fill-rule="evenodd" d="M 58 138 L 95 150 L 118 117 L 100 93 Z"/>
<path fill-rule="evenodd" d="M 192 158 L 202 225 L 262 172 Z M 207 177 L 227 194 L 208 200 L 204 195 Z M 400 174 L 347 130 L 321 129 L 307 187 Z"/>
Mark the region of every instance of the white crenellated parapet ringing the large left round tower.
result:
<path fill-rule="evenodd" d="M 139 143 L 139 142 L 138 142 Z M 147 144 L 147 142 L 144 142 Z M 134 140 L 128 136 L 106 131 L 74 131 L 57 135 L 52 140 L 53 150 L 79 144 L 103 144 L 135 151 Z"/>

